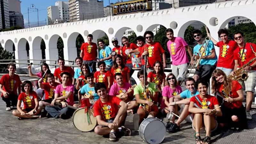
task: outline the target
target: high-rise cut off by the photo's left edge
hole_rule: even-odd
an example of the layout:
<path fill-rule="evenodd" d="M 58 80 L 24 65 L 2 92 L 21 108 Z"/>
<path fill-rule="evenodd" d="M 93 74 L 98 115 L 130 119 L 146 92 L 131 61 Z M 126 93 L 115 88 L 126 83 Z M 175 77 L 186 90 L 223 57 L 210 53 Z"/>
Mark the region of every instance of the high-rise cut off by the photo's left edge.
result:
<path fill-rule="evenodd" d="M 0 0 L 0 29 L 10 28 L 8 0 Z"/>

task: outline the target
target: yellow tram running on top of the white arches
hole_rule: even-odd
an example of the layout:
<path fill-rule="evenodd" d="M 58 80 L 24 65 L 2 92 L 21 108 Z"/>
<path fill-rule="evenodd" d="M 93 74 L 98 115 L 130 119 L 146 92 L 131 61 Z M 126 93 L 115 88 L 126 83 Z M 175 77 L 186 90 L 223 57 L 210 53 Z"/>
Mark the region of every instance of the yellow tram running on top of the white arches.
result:
<path fill-rule="evenodd" d="M 152 11 L 152 0 L 131 0 L 113 4 L 113 14 Z"/>

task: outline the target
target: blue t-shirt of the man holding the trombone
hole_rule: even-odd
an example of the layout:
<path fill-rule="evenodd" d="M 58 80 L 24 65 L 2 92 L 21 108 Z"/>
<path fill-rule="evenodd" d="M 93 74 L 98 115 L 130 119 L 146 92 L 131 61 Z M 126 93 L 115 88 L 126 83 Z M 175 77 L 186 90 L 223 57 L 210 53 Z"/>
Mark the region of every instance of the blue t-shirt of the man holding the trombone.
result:
<path fill-rule="evenodd" d="M 193 53 L 197 52 L 197 53 L 199 53 L 199 56 L 201 56 L 200 53 L 202 53 L 202 51 L 204 50 L 203 48 L 201 48 L 201 46 L 202 46 L 202 44 L 197 44 L 193 49 Z M 200 52 L 199 52 L 199 49 L 200 49 Z M 212 49 L 214 49 L 214 44 L 210 40 L 208 46 L 205 49 L 205 52 L 203 53 L 203 56 L 211 55 L 211 50 Z M 216 64 L 217 60 L 218 60 L 217 55 L 215 55 L 214 59 L 201 59 L 200 60 L 200 65 L 212 65 L 212 66 L 214 66 Z"/>

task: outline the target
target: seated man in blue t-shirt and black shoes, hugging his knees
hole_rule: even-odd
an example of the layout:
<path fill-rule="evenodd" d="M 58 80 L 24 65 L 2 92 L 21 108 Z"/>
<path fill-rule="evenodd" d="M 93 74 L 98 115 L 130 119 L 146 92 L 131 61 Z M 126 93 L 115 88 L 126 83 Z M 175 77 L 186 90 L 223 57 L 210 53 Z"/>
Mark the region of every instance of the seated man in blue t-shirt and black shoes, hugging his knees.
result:
<path fill-rule="evenodd" d="M 188 77 L 185 80 L 185 86 L 187 90 L 181 92 L 180 94 L 171 97 L 169 103 L 169 110 L 174 111 L 175 114 L 178 114 L 178 105 L 184 104 L 184 108 L 180 114 L 180 118 L 174 123 L 175 116 L 173 115 L 171 122 L 167 122 L 166 130 L 167 132 L 174 133 L 180 131 L 180 123 L 189 115 L 188 106 L 190 98 L 198 95 L 199 92 L 195 89 L 195 80 L 191 77 Z M 183 100 L 180 100 L 183 99 Z M 181 105 L 180 105 L 181 106 Z M 165 110 L 166 113 L 168 111 Z"/>

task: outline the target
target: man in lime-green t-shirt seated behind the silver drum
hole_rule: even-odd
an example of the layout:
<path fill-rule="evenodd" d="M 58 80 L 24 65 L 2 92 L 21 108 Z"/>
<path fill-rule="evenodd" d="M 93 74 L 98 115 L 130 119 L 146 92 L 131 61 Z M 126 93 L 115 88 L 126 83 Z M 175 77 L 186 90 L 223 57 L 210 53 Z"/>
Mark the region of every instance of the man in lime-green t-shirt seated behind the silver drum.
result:
<path fill-rule="evenodd" d="M 135 96 L 137 103 L 140 104 L 140 107 L 137 111 L 137 114 L 135 114 L 133 118 L 135 131 L 138 130 L 139 124 L 143 121 L 145 116 L 148 115 L 148 117 L 156 117 L 158 113 L 157 104 L 154 103 L 157 102 L 158 98 L 157 85 L 148 81 L 146 81 L 146 83 L 144 82 L 144 70 L 140 70 L 137 74 L 137 77 L 140 79 L 140 84 L 135 87 L 133 95 Z M 144 87 L 144 83 L 146 88 Z M 144 89 L 146 89 L 146 94 L 148 96 L 145 95 Z M 139 115 L 140 117 L 139 122 L 137 121 L 137 118 L 135 118 L 137 117 L 136 115 Z"/>

